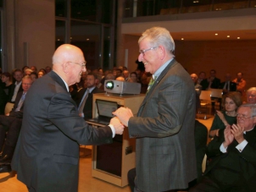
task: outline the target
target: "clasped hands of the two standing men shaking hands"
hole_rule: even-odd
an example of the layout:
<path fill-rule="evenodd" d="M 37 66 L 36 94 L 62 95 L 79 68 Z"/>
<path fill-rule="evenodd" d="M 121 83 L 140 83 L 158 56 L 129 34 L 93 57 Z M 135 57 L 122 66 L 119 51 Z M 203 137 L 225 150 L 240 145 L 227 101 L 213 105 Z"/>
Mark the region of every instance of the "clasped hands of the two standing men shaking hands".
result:
<path fill-rule="evenodd" d="M 120 107 L 113 112 L 114 118 L 111 118 L 110 124 L 114 126 L 115 134 L 123 134 L 125 126 L 128 127 L 128 121 L 133 114 L 130 108 Z"/>

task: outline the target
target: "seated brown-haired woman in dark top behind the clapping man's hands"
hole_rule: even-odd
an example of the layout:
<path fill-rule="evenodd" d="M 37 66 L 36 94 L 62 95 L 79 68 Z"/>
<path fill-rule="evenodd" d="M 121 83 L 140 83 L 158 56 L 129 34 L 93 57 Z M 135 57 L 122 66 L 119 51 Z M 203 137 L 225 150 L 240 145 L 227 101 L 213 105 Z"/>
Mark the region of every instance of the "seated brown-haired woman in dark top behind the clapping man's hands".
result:
<path fill-rule="evenodd" d="M 224 111 L 216 111 L 214 121 L 209 130 L 209 136 L 218 135 L 220 129 L 225 129 L 227 125 L 237 123 L 237 108 L 242 105 L 242 97 L 238 92 L 230 92 L 222 98 Z"/>

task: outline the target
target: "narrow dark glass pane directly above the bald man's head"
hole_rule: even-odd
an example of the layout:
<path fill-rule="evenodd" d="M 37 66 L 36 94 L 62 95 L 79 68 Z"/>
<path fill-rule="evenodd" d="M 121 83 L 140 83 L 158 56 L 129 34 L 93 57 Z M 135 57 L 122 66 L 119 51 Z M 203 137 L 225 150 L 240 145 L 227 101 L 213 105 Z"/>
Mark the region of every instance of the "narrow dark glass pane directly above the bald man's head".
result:
<path fill-rule="evenodd" d="M 56 20 L 55 23 L 55 48 L 65 43 L 65 21 Z M 66 42 L 69 43 L 69 42 Z"/>

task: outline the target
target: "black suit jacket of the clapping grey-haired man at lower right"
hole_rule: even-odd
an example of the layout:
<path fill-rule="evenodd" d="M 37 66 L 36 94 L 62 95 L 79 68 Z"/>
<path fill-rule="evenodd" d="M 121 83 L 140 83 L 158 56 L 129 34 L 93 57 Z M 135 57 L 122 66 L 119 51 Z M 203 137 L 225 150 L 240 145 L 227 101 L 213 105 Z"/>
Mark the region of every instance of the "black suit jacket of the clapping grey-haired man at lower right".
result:
<path fill-rule="evenodd" d="M 215 136 L 214 140 L 209 143 L 207 148 L 207 156 L 212 161 L 205 170 L 204 175 L 208 176 L 217 167 L 222 167 L 222 174 L 218 174 L 217 180 L 222 179 L 225 184 L 232 184 L 234 175 L 238 174 L 241 178 L 236 184 L 242 182 L 242 186 L 248 187 L 246 191 L 255 191 L 256 189 L 256 129 L 244 134 L 245 140 L 248 141 L 248 145 L 239 152 L 236 148 L 238 145 L 237 140 L 234 140 L 231 145 L 228 146 L 227 152 L 222 153 L 220 151 L 220 145 L 224 142 L 224 129 L 220 129 L 219 137 Z M 226 177 L 223 178 L 222 176 Z"/>

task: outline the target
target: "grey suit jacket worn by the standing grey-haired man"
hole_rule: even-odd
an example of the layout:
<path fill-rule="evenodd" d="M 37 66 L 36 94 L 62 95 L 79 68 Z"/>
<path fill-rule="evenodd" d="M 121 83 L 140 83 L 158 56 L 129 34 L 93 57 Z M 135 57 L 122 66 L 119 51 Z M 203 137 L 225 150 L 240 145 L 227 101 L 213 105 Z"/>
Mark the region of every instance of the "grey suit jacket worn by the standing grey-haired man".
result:
<path fill-rule="evenodd" d="M 136 137 L 138 189 L 185 189 L 197 177 L 195 99 L 190 75 L 173 59 L 148 91 L 137 117 L 129 120 L 130 137 Z"/>

